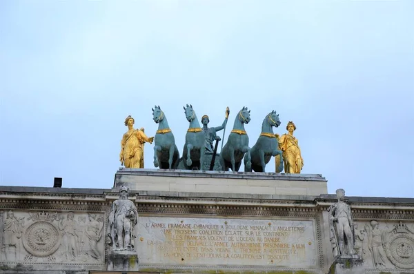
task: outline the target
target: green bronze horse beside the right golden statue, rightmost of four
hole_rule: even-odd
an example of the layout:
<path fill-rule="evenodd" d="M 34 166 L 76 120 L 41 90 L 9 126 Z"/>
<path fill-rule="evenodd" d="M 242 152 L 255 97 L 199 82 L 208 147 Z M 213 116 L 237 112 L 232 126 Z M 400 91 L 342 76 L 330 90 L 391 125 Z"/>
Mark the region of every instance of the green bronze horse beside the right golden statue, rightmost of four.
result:
<path fill-rule="evenodd" d="M 251 168 L 245 168 L 245 171 L 265 172 L 266 164 L 270 161 L 272 156 L 279 155 L 279 166 L 283 166 L 282 150 L 279 150 L 279 144 L 275 133 L 273 133 L 273 126 L 276 128 L 280 126 L 279 115 L 275 110 L 272 110 L 262 123 L 262 133 L 256 144 L 250 150 Z M 246 166 L 247 159 L 244 157 L 244 165 Z M 277 172 L 277 170 L 276 170 Z"/>

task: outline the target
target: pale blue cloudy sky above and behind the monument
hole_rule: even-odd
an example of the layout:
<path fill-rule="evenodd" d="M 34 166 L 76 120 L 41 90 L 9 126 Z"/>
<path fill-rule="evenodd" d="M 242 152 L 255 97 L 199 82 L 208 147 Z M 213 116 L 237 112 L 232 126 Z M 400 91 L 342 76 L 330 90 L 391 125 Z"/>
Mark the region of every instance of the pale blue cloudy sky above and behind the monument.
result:
<path fill-rule="evenodd" d="M 111 188 L 124 119 L 250 146 L 276 110 L 329 193 L 414 197 L 414 1 L 1 1 L 0 184 Z M 220 132 L 220 135 L 222 131 Z M 146 168 L 153 168 L 146 145 Z M 274 171 L 273 159 L 267 170 Z"/>

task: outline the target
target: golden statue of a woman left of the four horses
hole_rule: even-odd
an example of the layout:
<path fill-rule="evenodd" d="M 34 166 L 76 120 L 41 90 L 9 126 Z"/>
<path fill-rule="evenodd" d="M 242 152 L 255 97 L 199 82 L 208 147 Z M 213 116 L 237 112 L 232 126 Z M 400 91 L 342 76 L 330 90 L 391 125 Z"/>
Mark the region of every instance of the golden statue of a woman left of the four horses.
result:
<path fill-rule="evenodd" d="M 152 144 L 154 137 L 147 137 L 144 128 L 135 129 L 134 118 L 129 115 L 125 119 L 125 126 L 128 131 L 121 140 L 121 153 L 119 153 L 119 161 L 126 168 L 144 168 L 144 144 L 146 142 Z"/>

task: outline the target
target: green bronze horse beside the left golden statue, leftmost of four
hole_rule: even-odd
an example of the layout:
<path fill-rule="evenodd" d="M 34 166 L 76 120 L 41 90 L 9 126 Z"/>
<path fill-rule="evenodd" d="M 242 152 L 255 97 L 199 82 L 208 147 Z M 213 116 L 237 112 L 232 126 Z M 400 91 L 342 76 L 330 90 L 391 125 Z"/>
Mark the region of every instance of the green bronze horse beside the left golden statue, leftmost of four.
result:
<path fill-rule="evenodd" d="M 174 135 L 168 126 L 166 115 L 159 106 L 152 108 L 152 119 L 158 124 L 154 137 L 154 166 L 162 169 L 177 169 L 179 151 L 175 145 Z"/>

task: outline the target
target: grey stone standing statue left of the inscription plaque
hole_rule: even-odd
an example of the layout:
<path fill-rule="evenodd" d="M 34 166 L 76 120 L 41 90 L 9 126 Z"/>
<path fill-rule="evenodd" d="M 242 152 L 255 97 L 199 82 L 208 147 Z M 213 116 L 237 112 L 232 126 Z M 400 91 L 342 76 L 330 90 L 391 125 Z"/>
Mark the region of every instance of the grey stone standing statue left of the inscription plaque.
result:
<path fill-rule="evenodd" d="M 128 188 L 121 186 L 119 199 L 112 204 L 108 217 L 108 239 L 114 250 L 131 250 L 134 248 L 134 228 L 138 222 L 135 204 L 128 199 Z"/>

